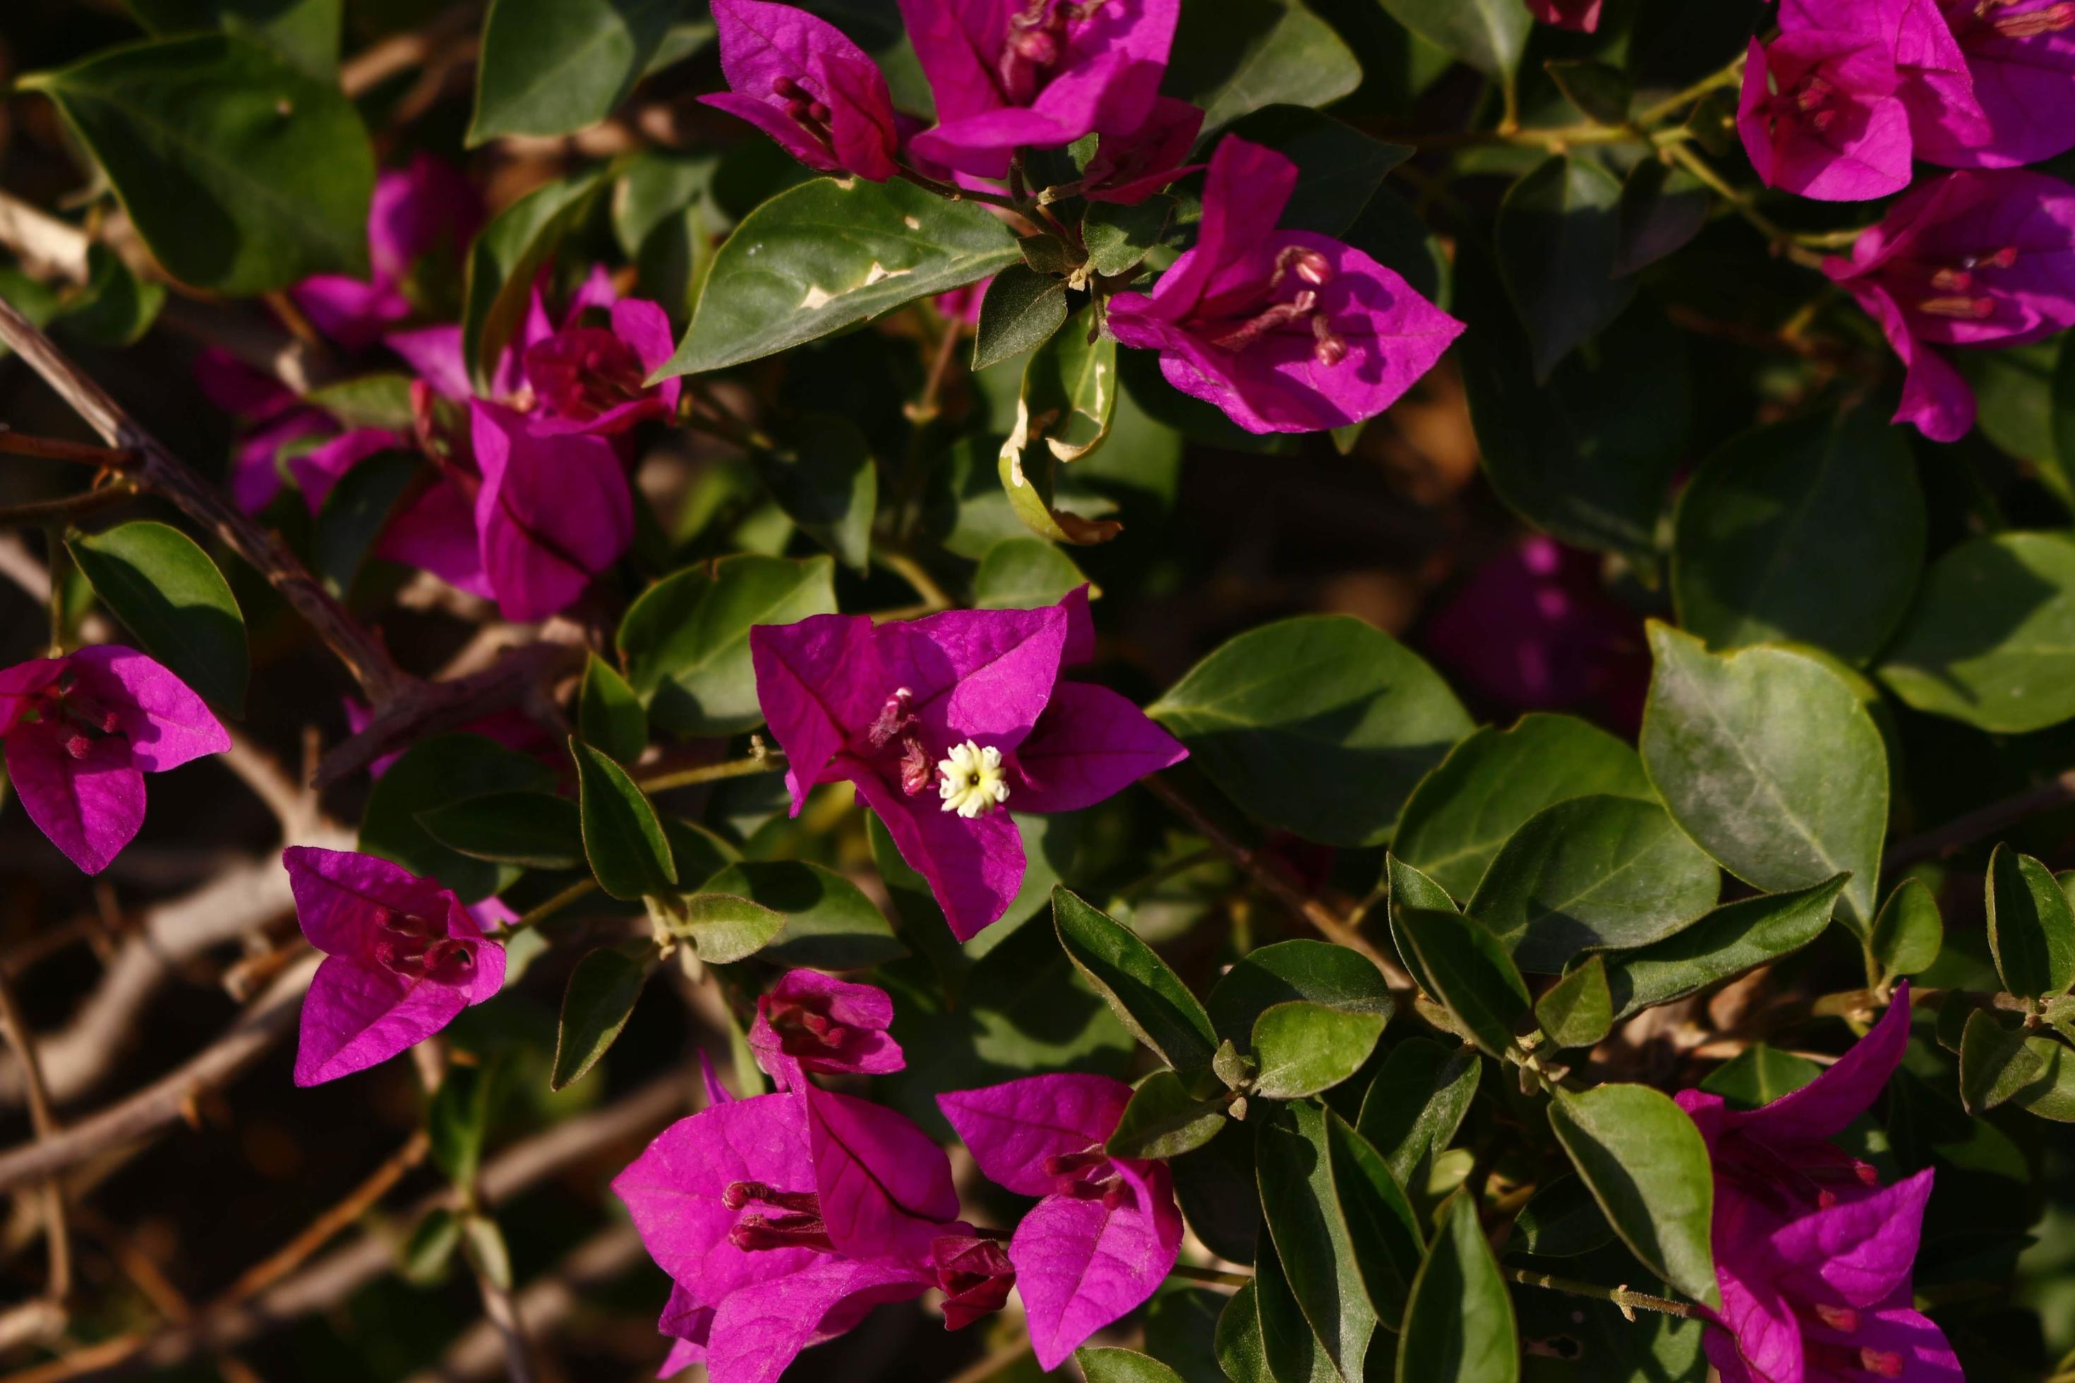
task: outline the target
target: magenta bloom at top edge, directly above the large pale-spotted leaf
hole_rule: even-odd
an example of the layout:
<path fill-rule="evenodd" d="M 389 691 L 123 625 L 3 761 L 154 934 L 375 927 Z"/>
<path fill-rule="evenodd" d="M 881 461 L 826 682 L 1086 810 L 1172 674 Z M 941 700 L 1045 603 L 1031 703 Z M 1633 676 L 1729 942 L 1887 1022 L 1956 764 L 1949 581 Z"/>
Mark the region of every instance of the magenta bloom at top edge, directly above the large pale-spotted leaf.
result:
<path fill-rule="evenodd" d="M 884 182 L 901 137 L 886 77 L 836 25 L 791 4 L 714 0 L 728 91 L 701 95 L 822 172 Z"/>

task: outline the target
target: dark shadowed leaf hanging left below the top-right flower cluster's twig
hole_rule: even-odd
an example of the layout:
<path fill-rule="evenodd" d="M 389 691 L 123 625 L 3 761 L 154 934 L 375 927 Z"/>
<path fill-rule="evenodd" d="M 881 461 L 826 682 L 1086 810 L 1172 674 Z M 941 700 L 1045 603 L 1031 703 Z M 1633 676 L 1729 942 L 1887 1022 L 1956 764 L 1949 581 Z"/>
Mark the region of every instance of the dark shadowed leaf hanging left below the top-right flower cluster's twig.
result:
<path fill-rule="evenodd" d="M 1434 2 L 1457 8 L 1455 0 Z M 1459 8 L 1484 6 L 1517 8 L 1506 0 L 1475 0 Z M 1498 203 L 1492 245 L 1506 292 L 1533 342 L 1536 379 L 1546 382 L 1558 361 L 1612 323 L 1635 294 L 1633 280 L 1614 278 L 1619 201 L 1621 182 L 1606 168 L 1556 156 L 1506 189 Z"/>

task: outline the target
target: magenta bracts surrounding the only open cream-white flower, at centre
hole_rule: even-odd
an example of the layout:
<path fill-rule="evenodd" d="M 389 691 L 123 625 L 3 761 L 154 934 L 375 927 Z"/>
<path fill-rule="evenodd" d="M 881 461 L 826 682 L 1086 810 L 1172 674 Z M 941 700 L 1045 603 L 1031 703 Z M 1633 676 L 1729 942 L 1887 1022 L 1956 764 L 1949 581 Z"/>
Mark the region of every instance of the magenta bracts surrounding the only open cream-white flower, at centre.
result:
<path fill-rule="evenodd" d="M 1000 798 L 973 815 L 946 807 L 940 765 L 955 751 L 998 755 L 1006 802 L 1035 811 L 1085 807 L 1187 757 L 1120 697 L 1060 684 L 1060 666 L 1091 647 L 1085 589 L 1042 610 L 948 610 L 888 624 L 813 616 L 749 630 L 793 813 L 815 784 L 855 784 L 961 939 L 1008 908 L 1023 842 Z"/>

